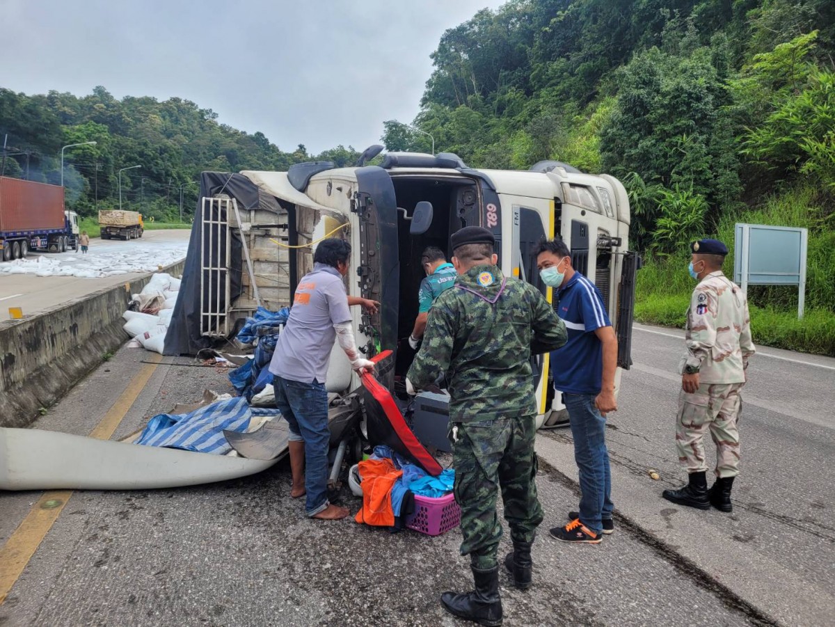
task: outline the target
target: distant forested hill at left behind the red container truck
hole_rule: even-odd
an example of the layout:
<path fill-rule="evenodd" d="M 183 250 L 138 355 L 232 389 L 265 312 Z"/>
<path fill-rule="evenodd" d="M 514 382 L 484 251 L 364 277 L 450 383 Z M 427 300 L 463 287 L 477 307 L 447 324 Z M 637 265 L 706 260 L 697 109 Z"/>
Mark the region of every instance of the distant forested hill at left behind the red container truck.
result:
<path fill-rule="evenodd" d="M 62 146 L 67 149 L 64 185 L 68 205 L 81 215 L 112 209 L 119 202 L 122 173 L 123 208 L 142 210 L 163 222 L 180 218 L 180 190 L 185 217 L 194 213 L 203 170 L 286 170 L 311 159 L 337 164 L 359 156 L 338 146 L 311 155 L 303 145 L 284 152 L 263 133 L 247 134 L 219 124 L 211 109 L 179 98 L 159 102 L 127 96 L 118 100 L 104 87 L 78 98 L 73 94 L 15 94 L 0 88 L 0 141 L 8 134 L 3 174 L 59 184 Z"/>

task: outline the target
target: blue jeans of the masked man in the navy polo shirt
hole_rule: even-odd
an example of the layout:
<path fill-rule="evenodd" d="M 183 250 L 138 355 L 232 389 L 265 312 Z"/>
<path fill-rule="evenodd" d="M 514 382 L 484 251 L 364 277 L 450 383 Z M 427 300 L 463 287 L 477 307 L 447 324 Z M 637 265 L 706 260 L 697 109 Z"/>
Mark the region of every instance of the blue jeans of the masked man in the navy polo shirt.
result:
<path fill-rule="evenodd" d="M 563 394 L 579 468 L 579 519 L 595 533 L 612 518 L 612 475 L 606 450 L 606 419 L 595 407 L 595 394 Z"/>

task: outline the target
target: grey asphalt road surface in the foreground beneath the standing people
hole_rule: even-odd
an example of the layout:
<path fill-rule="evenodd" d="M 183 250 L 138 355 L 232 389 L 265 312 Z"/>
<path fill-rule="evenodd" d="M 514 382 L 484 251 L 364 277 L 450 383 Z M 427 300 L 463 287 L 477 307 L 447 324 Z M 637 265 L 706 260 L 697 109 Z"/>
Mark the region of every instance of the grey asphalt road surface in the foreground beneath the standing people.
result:
<path fill-rule="evenodd" d="M 699 512 L 660 498 L 684 477 L 676 335 L 635 331 L 635 367 L 610 415 L 618 518 L 603 544 L 549 539 L 576 506 L 576 470 L 569 433 L 540 432 L 535 584 L 519 592 L 503 574 L 505 624 L 832 624 L 835 360 L 763 349 L 773 356 L 751 361 L 735 511 Z M 148 356 L 122 349 L 37 427 L 89 433 Z M 224 373 L 177 362 L 156 368 L 115 439 L 205 387 L 229 391 Z M 443 590 L 471 583 L 457 530 L 429 538 L 311 521 L 289 483 L 280 464 L 208 486 L 75 492 L 0 605 L 0 624 L 463 624 L 438 605 Z M 0 494 L 0 548 L 40 496 Z"/>

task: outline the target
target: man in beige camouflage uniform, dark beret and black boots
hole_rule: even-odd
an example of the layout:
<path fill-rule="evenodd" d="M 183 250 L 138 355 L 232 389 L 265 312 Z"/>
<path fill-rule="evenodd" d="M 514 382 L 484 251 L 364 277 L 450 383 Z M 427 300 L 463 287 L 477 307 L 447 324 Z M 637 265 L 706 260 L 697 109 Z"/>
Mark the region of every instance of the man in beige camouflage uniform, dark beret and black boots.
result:
<path fill-rule="evenodd" d="M 679 461 L 689 483 L 665 490 L 668 501 L 692 508 L 731 511 L 731 487 L 739 474 L 740 391 L 754 354 L 748 302 L 722 273 L 727 247 L 717 240 L 691 244 L 690 274 L 699 281 L 687 310 L 686 355 L 676 422 Z M 705 433 L 716 443 L 716 483 L 707 489 Z"/>

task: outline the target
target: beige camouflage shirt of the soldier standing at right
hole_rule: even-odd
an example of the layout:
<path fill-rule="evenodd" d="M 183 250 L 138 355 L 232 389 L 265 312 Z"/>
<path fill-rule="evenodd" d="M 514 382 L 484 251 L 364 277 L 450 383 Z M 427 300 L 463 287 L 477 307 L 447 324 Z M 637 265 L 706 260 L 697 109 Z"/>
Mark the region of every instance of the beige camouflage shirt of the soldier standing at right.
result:
<path fill-rule="evenodd" d="M 743 383 L 754 354 L 748 300 L 721 271 L 703 278 L 687 310 L 684 365 L 699 367 L 700 383 Z"/>

